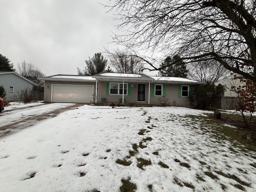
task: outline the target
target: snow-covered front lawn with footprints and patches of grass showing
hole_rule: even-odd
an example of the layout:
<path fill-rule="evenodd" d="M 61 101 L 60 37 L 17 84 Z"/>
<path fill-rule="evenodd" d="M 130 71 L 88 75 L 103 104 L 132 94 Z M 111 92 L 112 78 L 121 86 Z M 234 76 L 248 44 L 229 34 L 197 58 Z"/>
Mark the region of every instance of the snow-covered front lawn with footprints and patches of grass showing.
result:
<path fill-rule="evenodd" d="M 0 138 L 0 191 L 118 192 L 128 183 L 137 192 L 255 192 L 256 153 L 218 139 L 210 130 L 219 125 L 192 118 L 205 112 L 65 111 Z"/>

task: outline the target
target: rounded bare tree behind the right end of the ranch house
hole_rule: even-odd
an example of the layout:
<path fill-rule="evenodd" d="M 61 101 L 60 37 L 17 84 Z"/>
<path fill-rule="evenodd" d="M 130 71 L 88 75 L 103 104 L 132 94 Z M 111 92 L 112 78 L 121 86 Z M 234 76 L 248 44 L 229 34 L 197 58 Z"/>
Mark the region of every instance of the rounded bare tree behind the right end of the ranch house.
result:
<path fill-rule="evenodd" d="M 192 63 L 188 70 L 188 78 L 210 84 L 214 84 L 228 75 L 230 75 L 230 71 L 214 60 Z"/>

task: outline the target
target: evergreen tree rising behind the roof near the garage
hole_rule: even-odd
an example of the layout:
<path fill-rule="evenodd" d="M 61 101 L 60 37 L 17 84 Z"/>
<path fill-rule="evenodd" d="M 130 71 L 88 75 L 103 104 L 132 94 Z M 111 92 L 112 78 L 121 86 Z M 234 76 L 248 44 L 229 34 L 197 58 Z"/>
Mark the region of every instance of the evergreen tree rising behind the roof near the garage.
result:
<path fill-rule="evenodd" d="M 103 72 L 107 66 L 107 59 L 104 59 L 101 52 L 95 53 L 92 58 L 85 60 L 86 66 L 84 70 L 77 68 L 78 75 L 95 75 L 97 73 Z"/>

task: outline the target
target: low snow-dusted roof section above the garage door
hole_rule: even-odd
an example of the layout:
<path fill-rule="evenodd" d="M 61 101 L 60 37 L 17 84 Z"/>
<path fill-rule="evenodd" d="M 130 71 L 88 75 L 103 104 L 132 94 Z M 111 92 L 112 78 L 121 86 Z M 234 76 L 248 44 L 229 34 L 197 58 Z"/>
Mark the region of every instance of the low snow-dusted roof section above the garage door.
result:
<path fill-rule="evenodd" d="M 40 78 L 41 80 L 51 80 L 51 81 L 79 81 L 79 82 L 96 82 L 96 79 L 92 76 L 82 76 L 82 75 L 52 75 L 48 77 Z"/>

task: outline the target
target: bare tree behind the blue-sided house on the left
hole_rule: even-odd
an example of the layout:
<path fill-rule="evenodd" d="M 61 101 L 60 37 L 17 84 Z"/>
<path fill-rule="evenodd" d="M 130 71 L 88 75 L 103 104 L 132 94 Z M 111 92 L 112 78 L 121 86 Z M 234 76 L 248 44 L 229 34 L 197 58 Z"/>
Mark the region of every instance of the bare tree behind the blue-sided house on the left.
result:
<path fill-rule="evenodd" d="M 44 82 L 42 80 L 39 80 L 39 78 L 44 77 L 45 74 L 43 74 L 40 69 L 34 64 L 28 63 L 23 60 L 21 63 L 18 64 L 16 72 L 21 76 L 29 79 L 30 81 L 38 84 L 38 86 L 44 86 Z"/>

